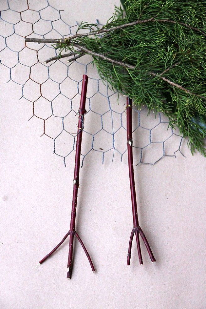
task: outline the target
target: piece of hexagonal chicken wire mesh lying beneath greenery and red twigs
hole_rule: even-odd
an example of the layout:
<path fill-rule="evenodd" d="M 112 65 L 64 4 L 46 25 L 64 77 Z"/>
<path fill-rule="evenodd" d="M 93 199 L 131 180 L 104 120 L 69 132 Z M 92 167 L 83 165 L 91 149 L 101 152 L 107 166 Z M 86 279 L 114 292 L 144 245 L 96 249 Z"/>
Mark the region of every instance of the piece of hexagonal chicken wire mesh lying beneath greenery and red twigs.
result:
<path fill-rule="evenodd" d="M 82 164 L 90 152 L 108 153 L 122 160 L 126 145 L 126 98 L 104 85 L 93 67 L 92 58 L 84 55 L 67 63 L 67 58 L 48 64 L 57 56 L 51 44 L 24 43 L 24 37 L 64 38 L 75 34 L 78 23 L 70 26 L 61 11 L 49 1 L 1 0 L 0 64 L 8 69 L 8 81 L 18 84 L 20 99 L 31 104 L 31 118 L 42 121 L 42 135 L 54 142 L 54 153 L 66 158 L 75 151 L 75 139 L 82 75 L 89 77 L 82 145 Z M 133 147 L 135 163 L 155 164 L 165 156 L 181 152 L 182 136 L 168 129 L 168 120 L 158 113 L 133 108 Z M 30 118 L 30 119 L 31 119 Z M 182 153 L 182 152 L 181 152 Z"/>

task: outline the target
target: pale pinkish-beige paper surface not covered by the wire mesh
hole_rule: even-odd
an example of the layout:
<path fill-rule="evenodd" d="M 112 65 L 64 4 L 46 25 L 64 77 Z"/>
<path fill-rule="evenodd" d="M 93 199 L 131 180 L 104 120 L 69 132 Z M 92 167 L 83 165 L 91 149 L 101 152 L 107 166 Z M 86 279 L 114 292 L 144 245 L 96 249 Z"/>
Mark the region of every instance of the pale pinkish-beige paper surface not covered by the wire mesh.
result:
<path fill-rule="evenodd" d="M 103 23 L 113 11 L 112 1 L 50 4 L 64 9 L 71 24 Z M 126 266 L 132 228 L 127 157 L 113 163 L 108 157 L 102 165 L 93 152 L 80 170 L 77 230 L 96 273 L 76 242 L 72 280 L 66 280 L 68 240 L 35 269 L 68 231 L 74 153 L 65 168 L 53 155 L 52 140 L 40 137 L 42 122 L 28 122 L 31 104 L 19 100 L 16 84 L 6 84 L 7 73 L 1 67 L 0 308 L 205 308 L 206 160 L 192 156 L 186 142 L 187 158 L 177 153 L 176 159 L 135 168 L 140 224 L 156 263 L 142 243 L 139 266 L 133 242 Z"/>

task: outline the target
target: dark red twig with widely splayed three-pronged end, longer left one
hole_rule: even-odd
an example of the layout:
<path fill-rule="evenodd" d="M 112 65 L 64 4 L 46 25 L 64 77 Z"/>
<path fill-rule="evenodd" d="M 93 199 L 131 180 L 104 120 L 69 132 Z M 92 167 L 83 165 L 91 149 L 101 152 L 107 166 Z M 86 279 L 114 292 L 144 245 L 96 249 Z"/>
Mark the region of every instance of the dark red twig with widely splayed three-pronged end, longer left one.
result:
<path fill-rule="evenodd" d="M 84 114 L 86 113 L 85 102 L 86 102 L 87 82 L 88 82 L 87 75 L 83 75 L 82 92 L 81 92 L 81 99 L 80 99 L 80 105 L 79 105 L 78 131 L 77 131 L 77 136 L 76 136 L 77 140 L 76 140 L 76 154 L 75 154 L 75 165 L 74 165 L 73 199 L 72 199 L 70 229 L 67 232 L 67 234 L 64 236 L 62 241 L 49 254 L 47 254 L 44 258 L 42 258 L 41 261 L 39 261 L 38 263 L 38 265 L 40 265 L 44 261 L 46 261 L 46 259 L 49 258 L 62 245 L 62 243 L 65 241 L 65 239 L 69 235 L 69 254 L 68 254 L 68 264 L 67 264 L 67 278 L 68 279 L 71 279 L 71 275 L 72 275 L 74 235 L 77 237 L 80 244 L 82 245 L 82 248 L 84 249 L 84 252 L 86 253 L 86 256 L 91 265 L 92 271 L 95 272 L 95 268 L 89 256 L 89 253 L 87 252 L 87 249 L 85 248 L 84 243 L 82 242 L 81 238 L 75 231 L 77 194 L 78 194 L 78 188 L 79 188 L 79 168 L 80 168 L 80 157 L 81 157 L 82 132 L 83 132 L 83 127 L 84 127 Z"/>

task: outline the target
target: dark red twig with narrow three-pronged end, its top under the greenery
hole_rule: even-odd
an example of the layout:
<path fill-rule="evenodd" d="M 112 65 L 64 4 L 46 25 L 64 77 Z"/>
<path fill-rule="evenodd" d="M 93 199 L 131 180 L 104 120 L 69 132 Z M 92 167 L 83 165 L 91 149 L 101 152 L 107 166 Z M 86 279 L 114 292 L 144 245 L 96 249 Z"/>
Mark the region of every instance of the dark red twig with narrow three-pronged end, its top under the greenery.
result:
<path fill-rule="evenodd" d="M 155 262 L 155 257 L 152 253 L 152 250 L 149 246 L 147 238 L 145 237 L 141 227 L 139 226 L 138 214 L 137 214 L 137 198 L 134 182 L 134 167 L 133 167 L 133 138 L 132 138 L 132 99 L 127 97 L 127 154 L 128 154 L 128 167 L 129 167 L 129 182 L 130 182 L 130 191 L 131 191 L 131 200 L 132 200 L 132 214 L 133 214 L 133 229 L 130 235 L 129 248 L 127 254 L 127 265 L 130 264 L 131 250 L 132 250 L 132 241 L 135 234 L 137 242 L 137 251 L 139 257 L 139 264 L 143 264 L 142 254 L 139 242 L 139 234 L 142 237 L 149 257 L 152 262 Z"/>

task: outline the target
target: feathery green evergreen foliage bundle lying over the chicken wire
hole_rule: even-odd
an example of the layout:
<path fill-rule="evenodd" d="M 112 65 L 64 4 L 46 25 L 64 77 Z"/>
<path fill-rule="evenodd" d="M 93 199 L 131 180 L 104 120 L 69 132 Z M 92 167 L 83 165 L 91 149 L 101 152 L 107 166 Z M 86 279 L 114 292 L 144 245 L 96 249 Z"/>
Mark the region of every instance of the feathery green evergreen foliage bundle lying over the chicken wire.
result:
<path fill-rule="evenodd" d="M 197 149 L 205 155 L 206 1 L 125 0 L 122 4 L 125 13 L 116 8 L 104 32 L 77 33 L 56 47 L 60 52 L 78 47 L 92 55 L 100 77 L 112 89 L 135 105 L 168 116 L 170 125 L 188 137 L 192 153 Z"/>

